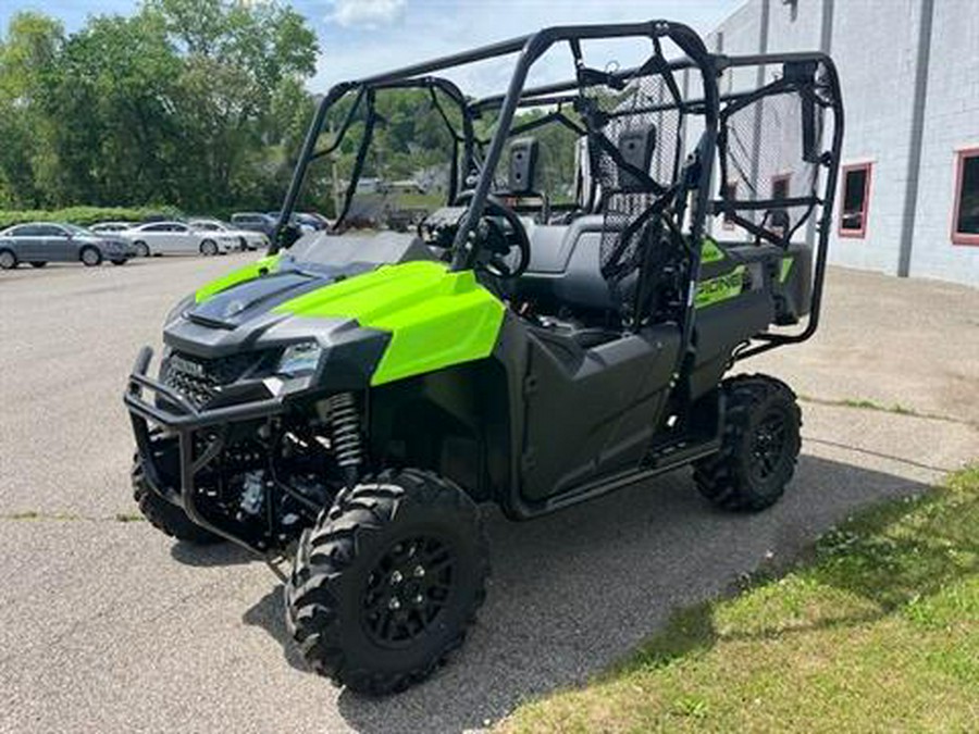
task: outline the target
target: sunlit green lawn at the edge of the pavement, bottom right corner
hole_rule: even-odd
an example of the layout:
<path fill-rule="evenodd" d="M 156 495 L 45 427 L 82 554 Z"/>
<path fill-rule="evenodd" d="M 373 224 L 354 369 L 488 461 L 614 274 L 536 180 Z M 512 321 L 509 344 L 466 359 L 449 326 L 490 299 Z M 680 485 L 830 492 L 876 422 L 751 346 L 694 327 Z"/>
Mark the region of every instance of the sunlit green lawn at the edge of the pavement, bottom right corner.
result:
<path fill-rule="evenodd" d="M 979 732 L 979 464 L 686 609 L 501 732 Z"/>

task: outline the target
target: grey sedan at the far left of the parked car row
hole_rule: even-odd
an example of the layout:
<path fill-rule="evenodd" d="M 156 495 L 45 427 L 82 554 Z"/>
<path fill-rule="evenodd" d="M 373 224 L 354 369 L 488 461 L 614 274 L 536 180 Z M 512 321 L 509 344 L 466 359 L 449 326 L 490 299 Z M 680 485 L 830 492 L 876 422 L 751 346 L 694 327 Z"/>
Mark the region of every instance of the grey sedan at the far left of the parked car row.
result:
<path fill-rule="evenodd" d="M 22 262 L 44 268 L 49 262 L 82 262 L 88 266 L 108 260 L 124 265 L 135 254 L 132 245 L 114 235 L 98 235 L 74 224 L 29 222 L 0 232 L 0 269 Z"/>

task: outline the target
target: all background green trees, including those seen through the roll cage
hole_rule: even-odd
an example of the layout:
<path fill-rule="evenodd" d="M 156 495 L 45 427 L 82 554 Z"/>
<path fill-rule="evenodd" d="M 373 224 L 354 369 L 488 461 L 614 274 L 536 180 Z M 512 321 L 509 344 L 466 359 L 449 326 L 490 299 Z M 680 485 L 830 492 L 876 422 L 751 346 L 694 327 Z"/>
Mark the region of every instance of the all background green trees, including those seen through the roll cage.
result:
<path fill-rule="evenodd" d="M 14 14 L 0 32 L 0 208 L 166 201 L 216 214 L 272 209 L 313 114 L 305 82 L 317 52 L 303 18 L 274 1 L 146 0 L 132 16 L 91 15 L 73 34 L 41 13 Z M 424 207 L 444 202 L 454 138 L 463 132 L 458 107 L 435 97 L 438 104 L 424 89 L 376 94 L 361 172 L 421 182 Z M 356 98 L 332 108 L 321 149 Z M 522 112 L 515 124 L 542 114 Z M 335 188 L 352 175 L 365 121 L 362 99 L 335 153 L 311 166 L 300 209 L 334 213 Z M 488 139 L 496 114 L 474 127 Z M 541 142 L 538 190 L 553 202 L 569 200 L 577 136 L 555 123 L 532 134 Z"/>

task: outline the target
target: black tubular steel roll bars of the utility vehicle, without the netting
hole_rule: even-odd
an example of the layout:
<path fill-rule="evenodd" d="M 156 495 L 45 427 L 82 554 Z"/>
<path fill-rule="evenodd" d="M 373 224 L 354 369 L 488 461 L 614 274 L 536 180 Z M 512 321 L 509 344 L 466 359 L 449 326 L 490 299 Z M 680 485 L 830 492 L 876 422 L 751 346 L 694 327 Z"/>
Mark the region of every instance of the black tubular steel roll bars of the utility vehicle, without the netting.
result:
<path fill-rule="evenodd" d="M 809 338 L 816 332 L 819 324 L 822 287 L 828 259 L 829 233 L 832 224 L 833 198 L 839 175 L 839 160 L 843 138 L 843 105 L 842 100 L 840 99 L 840 84 L 837 67 L 833 64 L 832 59 L 827 54 L 819 52 L 786 52 L 746 55 L 711 54 L 707 51 L 703 40 L 693 29 L 685 25 L 667 21 L 648 21 L 643 23 L 623 23 L 615 25 L 555 26 L 544 28 L 532 35 L 511 38 L 470 51 L 412 64 L 392 72 L 367 76 L 359 80 L 343 82 L 334 85 L 317 107 L 312 124 L 307 132 L 299 160 L 289 183 L 285 200 L 283 201 L 280 220 L 276 223 L 273 233 L 273 240 L 269 249 L 270 254 L 274 254 L 281 248 L 282 229 L 288 222 L 292 212 L 295 209 L 310 161 L 318 154 L 326 152 L 320 151 L 320 153 L 318 153 L 315 146 L 330 108 L 344 95 L 354 89 L 360 89 L 361 92 L 363 92 L 371 88 L 424 86 L 425 84 L 430 84 L 437 85 L 454 101 L 460 103 L 460 108 L 463 110 L 463 125 L 467 126 L 463 139 L 468 149 L 467 154 L 464 155 L 466 164 L 462 166 L 464 170 L 463 175 L 469 173 L 475 160 L 473 150 L 473 142 L 475 139 L 471 134 L 472 116 L 478 115 L 483 110 L 499 110 L 497 129 L 490 140 L 488 150 L 486 150 L 485 154 L 482 157 L 482 173 L 476 182 L 473 197 L 467 213 L 460 222 L 460 226 L 453 244 L 453 268 L 458 270 L 471 266 L 475 260 L 476 252 L 474 252 L 472 248 L 467 248 L 464 245 L 474 223 L 482 216 L 486 197 L 488 196 L 492 186 L 493 171 L 496 169 L 503 154 L 503 149 L 506 145 L 508 132 L 512 126 L 517 109 L 533 104 L 560 103 L 567 101 L 567 99 L 562 97 L 563 92 L 581 88 L 582 80 L 578 78 L 524 89 L 530 67 L 541 55 L 557 42 L 568 42 L 574 48 L 581 40 L 623 37 L 649 37 L 656 42 L 658 42 L 659 38 L 668 37 L 685 55 L 659 63 L 657 71 L 661 73 L 672 73 L 681 70 L 698 70 L 701 72 L 704 82 L 704 98 L 691 101 L 684 100 L 683 108 L 686 112 L 704 116 L 705 133 L 698 148 L 701 153 L 702 182 L 710 179 L 710 169 L 714 165 L 715 152 L 717 150 L 720 103 L 723 101 L 734 102 L 736 104 L 745 98 L 751 98 L 753 94 L 746 92 L 721 97 L 717 88 L 717 77 L 723 71 L 738 66 L 758 66 L 806 61 L 819 62 L 826 69 L 828 75 L 827 80 L 829 86 L 833 89 L 832 101 L 829 105 L 834 115 L 833 141 L 831 148 L 832 164 L 827 166 L 826 194 L 822 199 L 818 201 L 818 203 L 822 206 L 822 212 L 818 222 L 819 241 L 816 250 L 813 297 L 807 324 L 804 331 L 798 334 L 759 334 L 756 339 L 760 341 L 760 344 L 754 344 L 742 350 L 739 352 L 738 359 L 766 351 L 782 344 L 803 341 Z M 453 69 L 455 66 L 513 53 L 519 53 L 519 57 L 507 91 L 504 95 L 492 95 L 476 100 L 466 100 L 461 91 L 459 91 L 450 82 L 443 79 L 442 77 L 430 76 L 435 72 Z M 635 66 L 608 72 L 604 74 L 604 76 L 611 80 L 628 83 L 642 71 L 643 66 Z M 665 104 L 664 109 L 667 108 L 676 108 L 676 103 Z M 655 108 L 650 108 L 650 111 L 654 109 Z M 711 203 L 714 202 L 710 199 L 710 191 L 708 189 L 708 186 L 701 185 L 694 191 L 695 206 L 692 209 L 694 216 L 692 217 L 690 225 L 690 236 L 692 241 L 696 241 L 696 238 L 702 236 L 705 216 L 708 212 L 712 211 Z M 699 248 L 692 248 L 691 258 L 693 272 L 692 277 L 690 278 L 690 289 L 686 294 L 686 302 L 684 303 L 685 318 L 683 319 L 684 323 L 682 325 L 683 352 L 690 347 L 695 319 L 694 297 L 701 266 Z M 678 365 L 678 371 L 681 368 L 682 365 Z"/>

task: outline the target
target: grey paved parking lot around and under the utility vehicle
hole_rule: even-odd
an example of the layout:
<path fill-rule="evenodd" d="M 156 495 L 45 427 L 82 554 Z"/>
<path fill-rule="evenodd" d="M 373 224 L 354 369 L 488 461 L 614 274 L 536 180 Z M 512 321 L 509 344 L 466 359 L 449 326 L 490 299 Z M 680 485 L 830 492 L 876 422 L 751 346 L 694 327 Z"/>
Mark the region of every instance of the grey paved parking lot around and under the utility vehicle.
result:
<path fill-rule="evenodd" d="M 724 514 L 680 472 L 531 523 L 487 511 L 494 575 L 467 645 L 430 682 L 362 698 L 305 668 L 261 562 L 134 514 L 121 393 L 136 351 L 177 298 L 255 257 L 0 275 L 0 731 L 481 729 L 979 458 L 979 290 L 833 270 L 818 337 L 745 366 L 804 396 L 781 505 Z"/>

